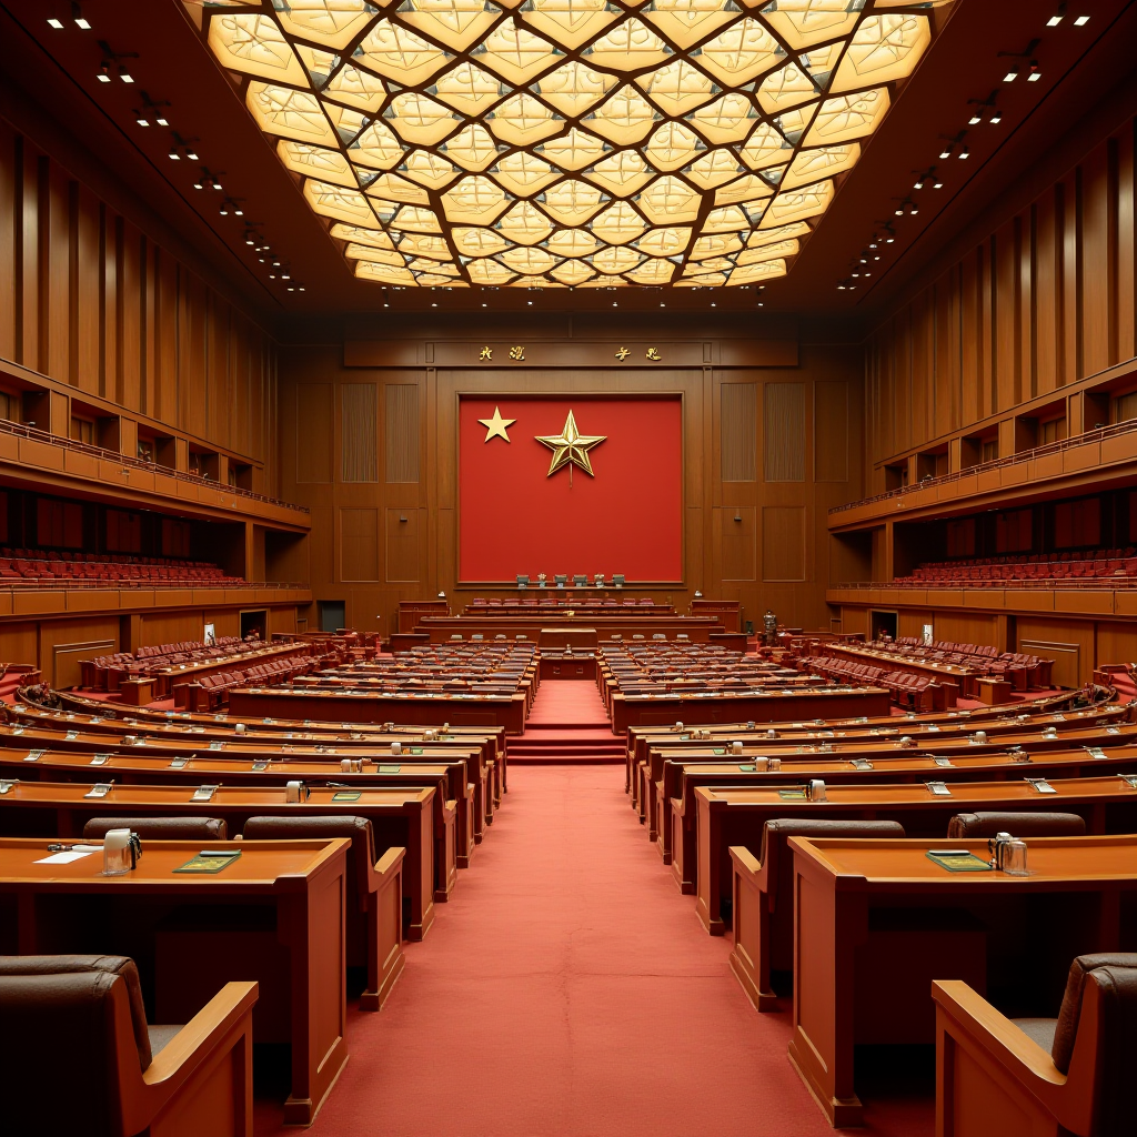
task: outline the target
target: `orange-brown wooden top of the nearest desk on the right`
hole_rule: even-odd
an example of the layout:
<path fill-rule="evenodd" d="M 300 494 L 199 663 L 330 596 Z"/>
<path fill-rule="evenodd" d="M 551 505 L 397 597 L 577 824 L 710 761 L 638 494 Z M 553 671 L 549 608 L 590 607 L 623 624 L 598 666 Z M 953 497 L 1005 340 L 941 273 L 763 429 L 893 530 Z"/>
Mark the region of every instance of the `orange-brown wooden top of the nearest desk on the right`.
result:
<path fill-rule="evenodd" d="M 1104 791 L 1105 787 L 1097 787 L 1087 796 Z M 1096 888 L 1113 881 L 1137 887 L 1137 835 L 1026 837 L 1023 840 L 1028 848 L 1029 877 L 1012 877 L 1005 872 L 948 872 L 927 856 L 930 848 L 966 848 L 986 861 L 990 856 L 986 839 L 885 841 L 791 837 L 789 844 L 796 853 L 835 877 L 839 889 L 891 890 L 895 886 L 916 886 L 921 891 L 929 888 L 1031 891 L 1054 886 Z"/>

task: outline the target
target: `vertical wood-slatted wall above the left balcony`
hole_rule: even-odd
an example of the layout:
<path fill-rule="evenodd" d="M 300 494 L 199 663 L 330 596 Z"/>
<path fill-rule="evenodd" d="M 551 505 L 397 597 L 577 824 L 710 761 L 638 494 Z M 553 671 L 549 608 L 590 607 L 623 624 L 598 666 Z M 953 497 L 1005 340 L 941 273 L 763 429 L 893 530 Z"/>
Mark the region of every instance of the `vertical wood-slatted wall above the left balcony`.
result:
<path fill-rule="evenodd" d="M 263 463 L 275 489 L 273 340 L 2 119 L 0 359 Z"/>

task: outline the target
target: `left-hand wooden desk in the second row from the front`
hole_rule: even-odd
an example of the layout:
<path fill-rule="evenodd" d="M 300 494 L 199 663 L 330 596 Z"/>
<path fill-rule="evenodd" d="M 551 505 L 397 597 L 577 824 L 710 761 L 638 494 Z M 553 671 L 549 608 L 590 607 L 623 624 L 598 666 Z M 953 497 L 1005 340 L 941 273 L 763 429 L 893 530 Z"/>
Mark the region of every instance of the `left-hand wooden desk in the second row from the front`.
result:
<path fill-rule="evenodd" d="M 307 802 L 288 804 L 284 790 L 221 786 L 208 802 L 191 802 L 183 786 L 114 786 L 106 797 L 86 798 L 92 782 L 20 782 L 0 794 L 0 828 L 8 836 L 78 838 L 91 818 L 223 818 L 231 835 L 256 815 L 367 818 L 375 852 L 407 850 L 402 866 L 402 919 L 407 939 L 421 940 L 434 922 L 433 789 L 365 789 L 356 802 L 333 802 L 334 789 L 312 790 Z M 149 847 L 149 843 L 147 843 Z"/>

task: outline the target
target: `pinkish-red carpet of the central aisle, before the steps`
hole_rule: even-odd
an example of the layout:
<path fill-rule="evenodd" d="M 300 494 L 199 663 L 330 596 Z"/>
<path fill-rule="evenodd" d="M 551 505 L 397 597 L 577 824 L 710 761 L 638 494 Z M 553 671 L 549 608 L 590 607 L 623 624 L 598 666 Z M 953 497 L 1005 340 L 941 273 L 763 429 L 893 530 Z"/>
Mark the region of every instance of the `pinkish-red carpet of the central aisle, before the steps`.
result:
<path fill-rule="evenodd" d="M 613 766 L 511 772 L 501 812 L 314 1137 L 829 1137 L 786 1057 L 648 845 Z M 288 1131 L 262 1109 L 258 1134 Z M 864 1134 L 924 1137 L 927 1098 Z M 274 1111 L 279 1118 L 279 1112 Z M 294 1130 L 291 1130 L 294 1132 Z"/>

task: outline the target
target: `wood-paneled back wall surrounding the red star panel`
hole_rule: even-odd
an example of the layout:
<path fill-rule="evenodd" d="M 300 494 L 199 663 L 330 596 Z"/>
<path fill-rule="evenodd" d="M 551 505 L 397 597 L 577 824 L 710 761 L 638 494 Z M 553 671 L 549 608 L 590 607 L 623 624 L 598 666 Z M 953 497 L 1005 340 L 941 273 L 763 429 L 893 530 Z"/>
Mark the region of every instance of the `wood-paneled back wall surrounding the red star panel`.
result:
<path fill-rule="evenodd" d="M 498 329 L 495 339 L 516 342 L 516 332 Z M 532 342 L 532 326 L 526 333 L 520 339 Z M 506 371 L 479 367 L 476 348 L 459 363 L 467 354 L 459 340 L 476 329 L 432 334 L 370 352 L 400 360 L 391 366 L 358 365 L 356 345 L 348 346 L 354 366 L 338 347 L 290 348 L 281 358 L 281 492 L 312 509 L 307 559 L 317 603 L 343 601 L 350 625 L 389 630 L 399 599 L 443 590 L 457 611 L 492 592 L 456 588 L 460 395 L 678 393 L 684 584 L 659 598 L 686 611 L 700 589 L 740 599 L 746 619 L 769 606 L 786 623 L 829 628 L 827 509 L 864 491 L 860 350 L 802 345 L 796 365 L 748 366 L 757 356 L 747 341 L 700 343 L 696 332 L 682 345 L 689 365 L 672 363 L 674 348 L 666 370 L 620 370 L 611 363 L 620 345 L 590 346 L 570 333 L 543 340 L 540 356 L 573 366 Z M 652 334 L 678 339 L 662 323 Z M 725 359 L 735 365 L 712 363 Z M 360 395 L 370 384 L 374 398 Z M 360 478 L 373 468 L 360 458 L 372 443 L 377 474 Z M 314 606 L 309 626 L 317 621 Z"/>

